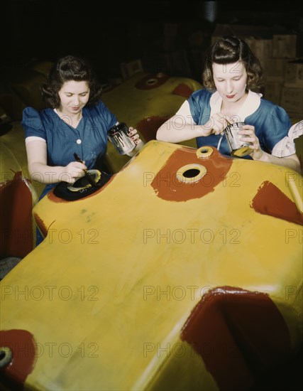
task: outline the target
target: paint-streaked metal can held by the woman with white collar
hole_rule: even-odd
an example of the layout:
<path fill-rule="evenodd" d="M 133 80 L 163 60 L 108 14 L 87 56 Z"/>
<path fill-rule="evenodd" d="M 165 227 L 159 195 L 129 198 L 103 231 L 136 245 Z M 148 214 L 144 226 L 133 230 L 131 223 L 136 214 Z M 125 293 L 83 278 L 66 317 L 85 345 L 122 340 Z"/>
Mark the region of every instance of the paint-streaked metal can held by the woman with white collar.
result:
<path fill-rule="evenodd" d="M 229 124 L 224 129 L 226 140 L 229 148 L 231 149 L 231 156 L 243 157 L 251 154 L 253 149 L 250 148 L 251 144 L 246 141 L 241 141 L 242 134 L 238 134 L 238 131 L 242 129 L 244 122 L 234 122 Z"/>

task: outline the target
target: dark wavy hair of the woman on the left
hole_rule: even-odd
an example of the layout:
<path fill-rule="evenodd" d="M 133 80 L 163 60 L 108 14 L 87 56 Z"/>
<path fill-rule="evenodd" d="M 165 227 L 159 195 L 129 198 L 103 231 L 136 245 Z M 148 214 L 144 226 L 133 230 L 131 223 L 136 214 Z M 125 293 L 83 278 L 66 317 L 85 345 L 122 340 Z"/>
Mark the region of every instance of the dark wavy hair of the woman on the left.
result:
<path fill-rule="evenodd" d="M 89 86 L 89 100 L 87 106 L 95 105 L 101 98 L 101 84 L 92 70 L 91 65 L 84 58 L 67 55 L 57 60 L 53 65 L 48 79 L 41 86 L 43 100 L 53 109 L 60 106 L 58 92 L 62 85 L 70 80 L 87 82 Z"/>

